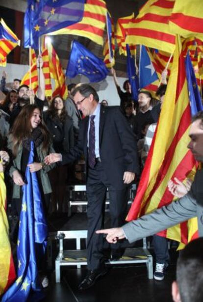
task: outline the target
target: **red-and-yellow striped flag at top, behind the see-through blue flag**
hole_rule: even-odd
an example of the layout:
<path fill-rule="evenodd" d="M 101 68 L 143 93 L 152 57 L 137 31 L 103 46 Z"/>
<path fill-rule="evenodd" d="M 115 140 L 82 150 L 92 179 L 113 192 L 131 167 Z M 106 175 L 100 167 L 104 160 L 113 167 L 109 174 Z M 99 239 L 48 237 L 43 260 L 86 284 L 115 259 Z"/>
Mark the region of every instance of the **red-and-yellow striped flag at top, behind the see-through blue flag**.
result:
<path fill-rule="evenodd" d="M 84 14 L 80 22 L 51 32 L 51 35 L 74 34 L 86 37 L 99 45 L 103 45 L 106 13 L 105 1 L 87 0 L 84 4 Z"/>

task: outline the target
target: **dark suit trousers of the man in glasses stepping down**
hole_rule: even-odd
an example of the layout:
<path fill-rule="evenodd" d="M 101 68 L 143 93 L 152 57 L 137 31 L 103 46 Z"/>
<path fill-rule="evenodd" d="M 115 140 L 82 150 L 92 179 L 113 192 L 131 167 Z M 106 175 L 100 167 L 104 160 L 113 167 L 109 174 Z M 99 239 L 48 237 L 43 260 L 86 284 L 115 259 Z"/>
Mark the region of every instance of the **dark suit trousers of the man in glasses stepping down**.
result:
<path fill-rule="evenodd" d="M 97 163 L 94 169 L 89 167 L 87 174 L 87 267 L 88 270 L 96 270 L 104 265 L 103 235 L 95 232 L 103 227 L 106 189 L 109 190 L 109 212 L 111 227 L 119 227 L 124 224 L 127 214 L 127 200 L 129 187 L 116 190 L 111 186 L 102 168 L 102 163 Z M 120 248 L 119 244 L 112 245 L 114 249 Z"/>

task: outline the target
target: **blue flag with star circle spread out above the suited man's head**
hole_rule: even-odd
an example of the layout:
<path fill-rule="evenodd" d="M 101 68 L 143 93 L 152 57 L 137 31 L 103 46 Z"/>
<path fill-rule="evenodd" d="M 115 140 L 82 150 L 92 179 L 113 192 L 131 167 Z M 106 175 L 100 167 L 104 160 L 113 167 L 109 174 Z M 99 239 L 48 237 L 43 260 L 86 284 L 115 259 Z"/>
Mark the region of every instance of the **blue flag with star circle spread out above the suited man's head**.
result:
<path fill-rule="evenodd" d="M 100 82 L 109 73 L 103 61 L 86 49 L 76 40 L 73 41 L 66 76 L 74 78 L 76 75 L 86 76 L 90 82 Z"/>

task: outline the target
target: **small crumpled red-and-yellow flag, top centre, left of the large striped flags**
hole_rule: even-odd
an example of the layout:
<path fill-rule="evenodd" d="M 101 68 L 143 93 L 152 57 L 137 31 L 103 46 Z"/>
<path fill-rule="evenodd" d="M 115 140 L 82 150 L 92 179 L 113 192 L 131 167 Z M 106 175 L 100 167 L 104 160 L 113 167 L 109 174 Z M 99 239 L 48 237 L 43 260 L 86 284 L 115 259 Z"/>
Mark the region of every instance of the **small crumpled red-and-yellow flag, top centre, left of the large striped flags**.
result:
<path fill-rule="evenodd" d="M 130 16 L 119 18 L 117 20 L 116 24 L 116 41 L 119 48 L 119 54 L 120 55 L 126 55 L 127 56 L 127 50 L 126 50 L 126 37 L 127 37 L 127 31 L 129 28 L 129 24 L 131 20 L 134 18 L 134 13 L 132 13 Z M 128 44 L 131 55 L 136 55 L 136 45 L 135 44 Z"/>

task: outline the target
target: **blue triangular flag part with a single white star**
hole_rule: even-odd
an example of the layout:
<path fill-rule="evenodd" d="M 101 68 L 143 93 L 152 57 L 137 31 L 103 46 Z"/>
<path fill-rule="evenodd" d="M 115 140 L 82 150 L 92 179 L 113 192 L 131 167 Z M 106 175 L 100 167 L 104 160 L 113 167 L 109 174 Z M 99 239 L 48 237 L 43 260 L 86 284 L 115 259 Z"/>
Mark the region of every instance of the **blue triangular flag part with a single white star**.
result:
<path fill-rule="evenodd" d="M 152 61 L 145 46 L 140 46 L 139 82 L 140 88 L 144 88 L 158 80 Z"/>

